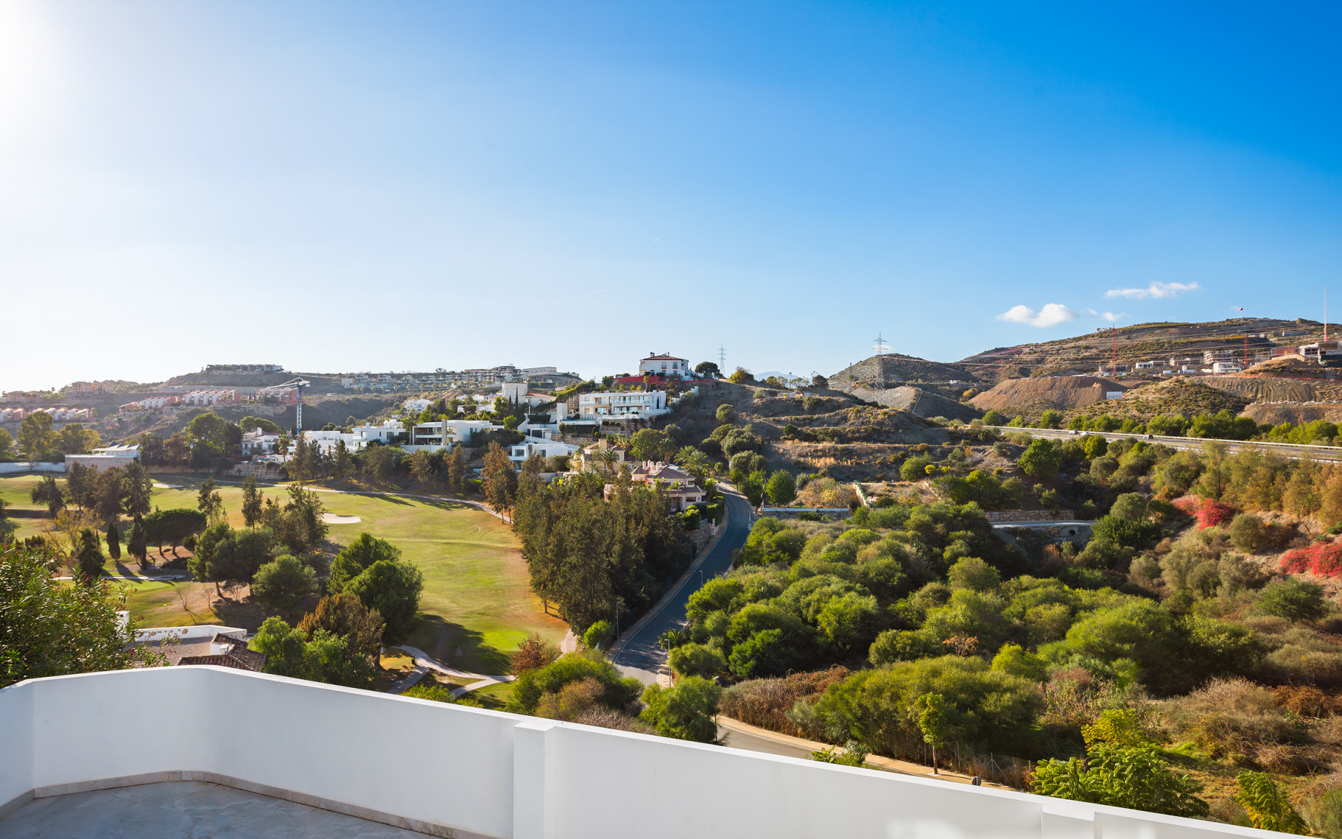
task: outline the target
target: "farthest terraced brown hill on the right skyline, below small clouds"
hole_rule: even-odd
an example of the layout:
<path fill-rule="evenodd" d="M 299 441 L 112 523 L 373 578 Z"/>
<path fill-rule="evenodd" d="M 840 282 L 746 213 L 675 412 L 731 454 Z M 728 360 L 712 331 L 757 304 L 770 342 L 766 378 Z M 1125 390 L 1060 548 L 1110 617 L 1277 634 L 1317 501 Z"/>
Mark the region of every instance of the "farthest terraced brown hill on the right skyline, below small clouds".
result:
<path fill-rule="evenodd" d="M 1287 334 L 1282 333 L 1304 333 Z M 1201 366 L 1206 350 L 1243 350 L 1252 354 L 1274 346 L 1308 344 L 1323 337 L 1323 325 L 1296 318 L 1231 318 L 1202 324 L 1135 324 L 1119 326 L 1113 333 L 1092 333 L 1059 338 L 1043 344 L 994 348 L 969 356 L 958 364 L 974 369 L 981 379 L 1021 379 L 1094 372 L 1110 364 L 1135 361 L 1196 360 Z"/>

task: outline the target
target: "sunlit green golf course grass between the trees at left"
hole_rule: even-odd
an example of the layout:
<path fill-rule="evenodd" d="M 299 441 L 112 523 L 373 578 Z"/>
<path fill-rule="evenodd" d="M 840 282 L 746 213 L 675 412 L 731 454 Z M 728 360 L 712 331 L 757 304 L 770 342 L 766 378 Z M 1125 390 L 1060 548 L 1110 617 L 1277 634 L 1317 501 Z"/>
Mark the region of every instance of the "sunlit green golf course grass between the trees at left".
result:
<path fill-rule="evenodd" d="M 153 503 L 160 509 L 196 506 L 200 478 L 157 475 L 154 479 L 181 487 L 156 489 Z M 34 509 L 27 497 L 34 483 L 32 475 L 3 477 L 0 497 L 17 509 Z M 242 489 L 221 483 L 219 491 L 229 522 L 242 526 Z M 286 495 L 283 487 L 263 486 L 262 491 L 276 501 Z M 527 587 L 526 564 L 513 532 L 488 513 L 455 502 L 392 495 L 321 493 L 321 499 L 329 513 L 361 518 L 357 524 L 330 525 L 330 553 L 366 530 L 399 546 L 424 573 L 420 601 L 424 619 L 405 643 L 454 667 L 505 673 L 507 654 L 530 632 L 539 632 L 553 643 L 564 636 L 565 624 L 545 615 Z M 20 536 L 27 536 L 42 532 L 47 520 L 19 521 Z M 122 560 L 121 565 L 109 560 L 107 569 L 127 576 L 138 572 L 134 564 L 127 566 Z M 225 623 L 254 628 L 264 619 L 250 600 L 219 600 L 212 584 L 185 581 L 132 584 L 130 609 L 141 626 Z"/>

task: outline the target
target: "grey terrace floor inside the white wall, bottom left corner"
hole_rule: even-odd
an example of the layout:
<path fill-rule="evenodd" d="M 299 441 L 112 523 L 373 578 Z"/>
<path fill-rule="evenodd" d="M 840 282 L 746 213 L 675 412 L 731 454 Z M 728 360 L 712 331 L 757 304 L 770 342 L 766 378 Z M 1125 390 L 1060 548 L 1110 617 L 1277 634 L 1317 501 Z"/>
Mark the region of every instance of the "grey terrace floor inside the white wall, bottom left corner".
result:
<path fill-rule="evenodd" d="M 7 839 L 416 839 L 415 831 L 201 781 L 34 799 L 0 819 Z"/>

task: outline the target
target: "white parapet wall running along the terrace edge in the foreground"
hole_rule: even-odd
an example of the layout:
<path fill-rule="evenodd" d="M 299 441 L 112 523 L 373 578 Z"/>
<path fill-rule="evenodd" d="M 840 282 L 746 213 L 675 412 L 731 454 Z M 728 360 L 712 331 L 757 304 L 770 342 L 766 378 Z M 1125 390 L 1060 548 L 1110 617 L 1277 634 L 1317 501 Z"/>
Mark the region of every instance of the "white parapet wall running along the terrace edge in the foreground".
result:
<path fill-rule="evenodd" d="M 127 706 L 153 726 L 127 730 Z M 462 838 L 1274 835 L 224 667 L 0 690 L 0 811 L 174 777 Z"/>

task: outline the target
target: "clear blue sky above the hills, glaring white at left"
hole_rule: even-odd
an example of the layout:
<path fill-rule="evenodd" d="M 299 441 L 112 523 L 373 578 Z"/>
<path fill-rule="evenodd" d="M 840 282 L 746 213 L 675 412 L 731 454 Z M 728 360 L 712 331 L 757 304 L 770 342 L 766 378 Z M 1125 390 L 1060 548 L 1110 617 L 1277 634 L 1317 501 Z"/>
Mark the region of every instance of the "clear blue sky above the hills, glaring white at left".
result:
<path fill-rule="evenodd" d="M 1319 319 L 1338 34 L 1304 4 L 0 0 L 0 389 Z"/>

